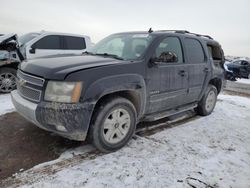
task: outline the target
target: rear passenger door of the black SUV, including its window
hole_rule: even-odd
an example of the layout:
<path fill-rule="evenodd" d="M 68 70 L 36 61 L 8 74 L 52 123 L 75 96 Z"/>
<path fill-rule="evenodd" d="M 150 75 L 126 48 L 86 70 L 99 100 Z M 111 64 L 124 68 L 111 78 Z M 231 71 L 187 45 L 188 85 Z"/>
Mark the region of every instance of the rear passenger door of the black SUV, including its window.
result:
<path fill-rule="evenodd" d="M 186 63 L 188 65 L 188 94 L 185 103 L 198 101 L 207 76 L 211 72 L 208 58 L 201 42 L 196 38 L 185 38 Z"/>

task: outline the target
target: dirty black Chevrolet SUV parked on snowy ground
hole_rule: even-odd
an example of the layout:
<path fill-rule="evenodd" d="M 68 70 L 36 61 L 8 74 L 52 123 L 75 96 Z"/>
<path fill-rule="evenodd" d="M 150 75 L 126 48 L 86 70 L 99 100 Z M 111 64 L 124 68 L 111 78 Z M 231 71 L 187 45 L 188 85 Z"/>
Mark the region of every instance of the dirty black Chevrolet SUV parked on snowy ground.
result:
<path fill-rule="evenodd" d="M 209 36 L 118 33 L 81 56 L 22 63 L 12 101 L 40 128 L 115 151 L 138 122 L 194 108 L 210 114 L 222 88 L 223 63 L 221 46 Z"/>

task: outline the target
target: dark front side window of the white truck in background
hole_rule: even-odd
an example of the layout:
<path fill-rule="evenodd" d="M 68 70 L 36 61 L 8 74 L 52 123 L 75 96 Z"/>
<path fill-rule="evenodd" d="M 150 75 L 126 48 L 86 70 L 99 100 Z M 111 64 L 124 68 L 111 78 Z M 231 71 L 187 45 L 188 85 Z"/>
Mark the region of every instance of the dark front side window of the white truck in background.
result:
<path fill-rule="evenodd" d="M 33 44 L 32 48 L 51 50 L 61 49 L 60 37 L 57 35 L 45 36 Z"/>

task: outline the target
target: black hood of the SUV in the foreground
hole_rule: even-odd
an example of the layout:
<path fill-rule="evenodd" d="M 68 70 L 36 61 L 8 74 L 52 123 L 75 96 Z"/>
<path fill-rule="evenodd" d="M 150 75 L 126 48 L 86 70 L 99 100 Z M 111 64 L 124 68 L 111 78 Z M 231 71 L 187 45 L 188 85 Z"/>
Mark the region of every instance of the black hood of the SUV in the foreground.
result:
<path fill-rule="evenodd" d="M 19 68 L 23 72 L 45 79 L 64 80 L 72 72 L 117 63 L 121 63 L 121 61 L 102 56 L 57 56 L 26 60 L 20 64 Z"/>

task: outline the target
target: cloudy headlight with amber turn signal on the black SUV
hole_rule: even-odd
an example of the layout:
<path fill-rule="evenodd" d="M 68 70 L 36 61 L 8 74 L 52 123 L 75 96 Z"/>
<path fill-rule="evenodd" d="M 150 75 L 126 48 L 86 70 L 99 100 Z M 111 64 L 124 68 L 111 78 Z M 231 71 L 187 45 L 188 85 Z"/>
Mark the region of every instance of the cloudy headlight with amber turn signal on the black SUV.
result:
<path fill-rule="evenodd" d="M 77 103 L 81 96 L 81 82 L 49 81 L 44 100 L 52 102 Z"/>

